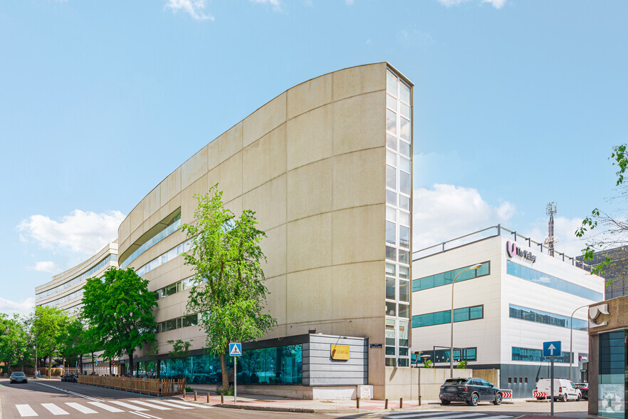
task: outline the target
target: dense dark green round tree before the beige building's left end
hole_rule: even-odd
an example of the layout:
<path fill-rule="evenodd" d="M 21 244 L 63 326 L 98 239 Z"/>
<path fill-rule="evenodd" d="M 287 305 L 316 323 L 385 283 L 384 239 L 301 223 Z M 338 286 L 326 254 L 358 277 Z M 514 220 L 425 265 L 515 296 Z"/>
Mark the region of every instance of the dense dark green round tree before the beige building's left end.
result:
<path fill-rule="evenodd" d="M 155 341 L 155 293 L 132 268 L 108 269 L 103 279 L 87 279 L 83 290 L 81 318 L 88 324 L 88 336 L 105 359 L 129 356 L 132 374 L 136 348 Z"/>

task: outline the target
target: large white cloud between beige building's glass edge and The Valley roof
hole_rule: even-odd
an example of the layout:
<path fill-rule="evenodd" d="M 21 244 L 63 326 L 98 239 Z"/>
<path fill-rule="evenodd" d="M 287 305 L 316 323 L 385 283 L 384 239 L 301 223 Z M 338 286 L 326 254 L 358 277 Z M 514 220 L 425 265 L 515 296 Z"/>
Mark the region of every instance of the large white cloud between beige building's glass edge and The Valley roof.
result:
<path fill-rule="evenodd" d="M 510 202 L 488 204 L 471 187 L 436 184 L 414 190 L 414 250 L 424 249 L 496 224 L 515 214 Z M 506 226 L 507 227 L 507 226 Z"/>

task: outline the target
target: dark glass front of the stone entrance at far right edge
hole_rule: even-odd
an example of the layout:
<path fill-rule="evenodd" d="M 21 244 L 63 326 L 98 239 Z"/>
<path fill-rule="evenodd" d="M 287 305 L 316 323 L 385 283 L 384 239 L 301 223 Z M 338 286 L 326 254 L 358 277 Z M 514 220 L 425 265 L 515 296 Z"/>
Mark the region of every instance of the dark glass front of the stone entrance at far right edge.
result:
<path fill-rule="evenodd" d="M 626 346 L 628 330 L 600 333 L 600 374 L 597 388 L 598 415 L 626 418 Z"/>

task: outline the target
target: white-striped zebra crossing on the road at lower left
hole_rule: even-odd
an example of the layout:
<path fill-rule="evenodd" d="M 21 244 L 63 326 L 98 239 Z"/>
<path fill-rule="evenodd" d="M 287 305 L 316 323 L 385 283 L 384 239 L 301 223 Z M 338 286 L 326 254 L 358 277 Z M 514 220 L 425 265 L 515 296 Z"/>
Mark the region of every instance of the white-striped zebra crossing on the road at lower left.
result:
<path fill-rule="evenodd" d="M 211 409 L 211 406 L 199 403 L 189 403 L 182 400 L 85 400 L 84 403 L 30 403 L 15 405 L 22 418 L 30 418 L 39 415 L 70 415 L 83 413 L 93 415 L 103 411 L 111 413 L 129 412 L 143 418 L 156 418 L 150 415 L 151 410 L 187 410 L 187 409 Z"/>

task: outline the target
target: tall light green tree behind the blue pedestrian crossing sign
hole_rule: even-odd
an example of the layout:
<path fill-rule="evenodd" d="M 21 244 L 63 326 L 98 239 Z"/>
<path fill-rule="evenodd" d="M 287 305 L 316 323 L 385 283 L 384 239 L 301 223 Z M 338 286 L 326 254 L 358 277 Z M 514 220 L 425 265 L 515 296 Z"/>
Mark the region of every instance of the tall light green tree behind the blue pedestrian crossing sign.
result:
<path fill-rule="evenodd" d="M 197 222 L 182 226 L 192 238 L 192 254 L 183 255 L 185 264 L 195 271 L 187 309 L 200 313 L 206 348 L 219 356 L 222 386 L 229 388 L 225 358 L 229 343 L 261 338 L 276 324 L 263 314 L 268 289 L 261 267 L 266 257 L 259 243 L 266 234 L 257 229 L 251 209 L 235 217 L 224 207 L 218 185 L 196 198 Z"/>

